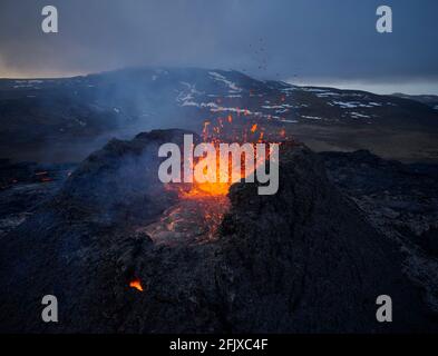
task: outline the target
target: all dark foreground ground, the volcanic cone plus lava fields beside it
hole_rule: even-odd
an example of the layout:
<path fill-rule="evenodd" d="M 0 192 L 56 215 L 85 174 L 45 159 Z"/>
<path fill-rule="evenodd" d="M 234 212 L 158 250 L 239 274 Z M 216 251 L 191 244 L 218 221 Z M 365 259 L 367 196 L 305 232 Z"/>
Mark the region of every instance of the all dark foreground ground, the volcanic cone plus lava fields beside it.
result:
<path fill-rule="evenodd" d="M 279 192 L 234 185 L 212 238 L 207 209 L 156 175 L 183 134 L 111 140 L 77 167 L 1 162 L 1 332 L 438 330 L 437 166 L 282 145 Z"/>

